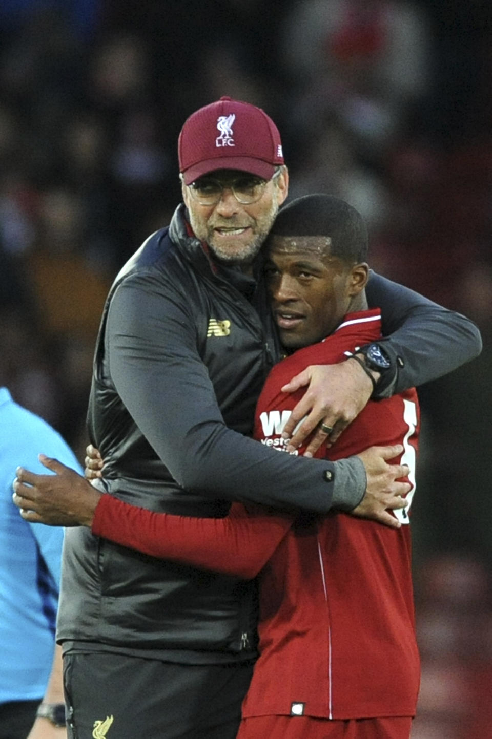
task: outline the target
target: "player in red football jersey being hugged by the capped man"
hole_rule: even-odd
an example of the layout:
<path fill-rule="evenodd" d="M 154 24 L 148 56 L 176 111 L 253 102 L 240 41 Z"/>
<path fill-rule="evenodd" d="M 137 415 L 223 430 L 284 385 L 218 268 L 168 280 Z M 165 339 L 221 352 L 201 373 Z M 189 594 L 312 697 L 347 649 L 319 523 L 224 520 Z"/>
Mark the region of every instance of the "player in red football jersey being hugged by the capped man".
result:
<path fill-rule="evenodd" d="M 272 453 L 289 451 L 283 428 L 303 393 L 282 392 L 293 375 L 357 361 L 371 342 L 380 350 L 380 311 L 365 302 L 367 240 L 357 211 L 328 195 L 293 201 L 274 223 L 265 279 L 288 354 L 266 379 L 255 418 L 255 437 Z M 336 460 L 393 447 L 411 491 L 387 526 L 242 503 L 226 518 L 195 519 L 99 500 L 92 531 L 101 537 L 246 579 L 259 573 L 260 656 L 238 739 L 408 739 L 419 688 L 408 525 L 418 429 L 410 389 L 370 401 L 316 452 Z"/>

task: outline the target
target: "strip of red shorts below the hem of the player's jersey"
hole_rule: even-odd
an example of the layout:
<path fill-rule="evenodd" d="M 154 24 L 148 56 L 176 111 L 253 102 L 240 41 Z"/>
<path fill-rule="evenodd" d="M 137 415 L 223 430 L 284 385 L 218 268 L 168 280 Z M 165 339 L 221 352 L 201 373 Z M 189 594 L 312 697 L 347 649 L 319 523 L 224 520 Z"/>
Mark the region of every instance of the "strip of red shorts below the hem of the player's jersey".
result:
<path fill-rule="evenodd" d="M 236 739 L 409 739 L 412 719 L 352 718 L 330 721 L 311 716 L 243 718 Z"/>

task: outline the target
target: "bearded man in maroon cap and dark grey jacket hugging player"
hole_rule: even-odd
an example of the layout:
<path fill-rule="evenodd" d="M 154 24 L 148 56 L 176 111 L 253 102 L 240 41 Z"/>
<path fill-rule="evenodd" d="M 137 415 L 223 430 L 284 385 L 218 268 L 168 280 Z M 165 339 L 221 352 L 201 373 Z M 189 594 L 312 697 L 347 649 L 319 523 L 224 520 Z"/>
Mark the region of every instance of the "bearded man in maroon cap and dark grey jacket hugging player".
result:
<path fill-rule="evenodd" d="M 186 120 L 179 159 L 184 203 L 121 270 L 104 308 L 88 415 L 105 460 L 98 488 L 189 517 L 224 517 L 231 500 L 249 500 L 388 522 L 386 509 L 402 508 L 408 486 L 395 481 L 402 468 L 385 462 L 387 448 L 365 452 L 365 463 L 330 462 L 274 454 L 248 438 L 281 356 L 260 254 L 287 196 L 276 126 L 259 108 L 221 98 Z M 371 393 L 401 392 L 479 352 L 462 316 L 376 275 L 367 296 L 382 308 L 387 338 L 362 347 L 357 361 L 310 372 L 330 384 L 321 401 L 309 389 L 292 412 L 288 437 L 308 415 L 292 447 L 316 427 L 313 451 Z M 92 520 L 94 489 L 81 480 L 75 513 L 66 486 L 63 474 L 41 485 L 38 503 L 50 514 L 39 520 Z M 71 739 L 232 739 L 256 656 L 255 582 L 70 528 L 57 639 Z"/>

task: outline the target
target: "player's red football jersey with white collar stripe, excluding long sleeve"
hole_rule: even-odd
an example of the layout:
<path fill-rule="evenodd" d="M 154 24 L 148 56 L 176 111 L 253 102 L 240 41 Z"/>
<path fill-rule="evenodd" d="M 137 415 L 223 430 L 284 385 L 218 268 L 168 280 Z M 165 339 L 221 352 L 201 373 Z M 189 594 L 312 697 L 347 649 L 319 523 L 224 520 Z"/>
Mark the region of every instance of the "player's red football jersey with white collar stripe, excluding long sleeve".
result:
<path fill-rule="evenodd" d="M 310 364 L 338 362 L 379 337 L 378 310 L 352 313 L 324 341 L 277 364 L 257 403 L 255 437 L 283 450 L 283 426 L 303 391 L 280 388 Z M 413 495 L 418 426 L 411 389 L 370 401 L 316 456 L 336 460 L 400 443 Z M 398 530 L 340 513 L 297 518 L 260 574 L 260 657 L 244 717 L 414 715 L 419 654 L 408 508 L 397 516 Z"/>

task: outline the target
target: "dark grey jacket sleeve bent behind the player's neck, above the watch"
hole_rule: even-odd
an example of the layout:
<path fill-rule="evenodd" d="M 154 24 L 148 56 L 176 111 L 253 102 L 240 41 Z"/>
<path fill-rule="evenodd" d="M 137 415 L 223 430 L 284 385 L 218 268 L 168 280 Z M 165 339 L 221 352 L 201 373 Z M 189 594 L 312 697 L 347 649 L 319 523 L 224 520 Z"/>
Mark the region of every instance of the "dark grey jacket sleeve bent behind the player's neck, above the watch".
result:
<path fill-rule="evenodd" d="M 482 351 L 482 338 L 470 319 L 424 298 L 408 287 L 371 272 L 369 307 L 380 307 L 384 347 L 392 369 L 374 398 L 389 398 L 448 374 Z"/>

